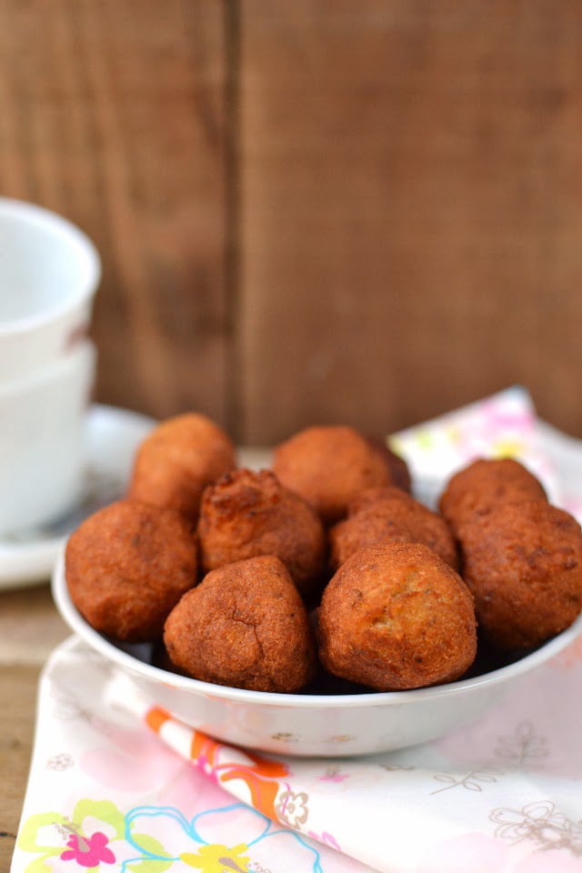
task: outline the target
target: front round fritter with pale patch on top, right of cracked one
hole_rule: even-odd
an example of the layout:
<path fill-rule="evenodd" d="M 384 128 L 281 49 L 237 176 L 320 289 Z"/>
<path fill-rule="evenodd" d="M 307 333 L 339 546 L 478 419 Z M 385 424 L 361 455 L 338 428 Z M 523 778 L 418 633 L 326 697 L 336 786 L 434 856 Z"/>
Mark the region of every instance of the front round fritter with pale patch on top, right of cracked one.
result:
<path fill-rule="evenodd" d="M 477 652 L 467 586 L 418 543 L 378 543 L 349 557 L 324 591 L 318 633 L 330 673 L 378 691 L 452 681 Z"/>

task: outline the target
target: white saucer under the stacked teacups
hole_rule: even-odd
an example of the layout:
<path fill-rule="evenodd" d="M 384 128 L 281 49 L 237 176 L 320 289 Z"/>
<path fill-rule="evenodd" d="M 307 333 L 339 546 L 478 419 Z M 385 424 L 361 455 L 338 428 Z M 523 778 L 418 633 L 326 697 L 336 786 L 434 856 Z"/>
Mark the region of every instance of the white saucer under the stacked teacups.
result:
<path fill-rule="evenodd" d="M 51 525 L 0 539 L 0 589 L 48 580 L 65 537 L 100 507 L 122 497 L 135 449 L 156 424 L 153 418 L 91 406 L 86 418 L 85 495 L 81 504 Z"/>

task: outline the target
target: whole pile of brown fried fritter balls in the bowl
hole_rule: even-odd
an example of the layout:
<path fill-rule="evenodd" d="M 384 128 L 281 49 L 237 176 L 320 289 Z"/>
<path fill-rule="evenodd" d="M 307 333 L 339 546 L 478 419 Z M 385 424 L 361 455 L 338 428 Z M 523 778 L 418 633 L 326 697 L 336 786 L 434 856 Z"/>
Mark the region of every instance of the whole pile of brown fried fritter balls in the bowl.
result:
<path fill-rule="evenodd" d="M 475 462 L 442 514 L 409 490 L 406 463 L 351 427 L 308 427 L 252 471 L 206 416 L 177 416 L 139 448 L 128 497 L 69 538 L 70 594 L 109 637 L 163 638 L 188 676 L 284 693 L 317 670 L 450 682 L 475 659 L 476 615 L 504 649 L 577 617 L 580 528 L 525 467 Z"/>

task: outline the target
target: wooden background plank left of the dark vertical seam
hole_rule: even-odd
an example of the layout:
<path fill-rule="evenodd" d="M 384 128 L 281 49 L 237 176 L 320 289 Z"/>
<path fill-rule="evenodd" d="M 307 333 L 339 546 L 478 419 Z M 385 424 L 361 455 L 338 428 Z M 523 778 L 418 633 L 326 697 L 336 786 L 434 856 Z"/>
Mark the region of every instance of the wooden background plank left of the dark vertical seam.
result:
<path fill-rule="evenodd" d="M 0 4 L 0 189 L 93 236 L 96 394 L 156 416 L 226 416 L 225 34 L 204 0 Z"/>

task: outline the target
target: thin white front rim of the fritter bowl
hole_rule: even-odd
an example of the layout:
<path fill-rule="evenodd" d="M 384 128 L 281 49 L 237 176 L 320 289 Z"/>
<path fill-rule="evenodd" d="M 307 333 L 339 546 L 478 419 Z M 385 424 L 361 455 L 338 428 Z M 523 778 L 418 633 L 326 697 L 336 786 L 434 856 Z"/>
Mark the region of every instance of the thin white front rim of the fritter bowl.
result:
<path fill-rule="evenodd" d="M 552 637 L 533 652 L 519 658 L 505 667 L 498 667 L 490 673 L 467 679 L 458 679 L 442 685 L 420 688 L 409 688 L 402 691 L 370 691 L 362 694 L 283 694 L 275 691 L 251 691 L 246 688 L 214 685 L 200 679 L 170 673 L 162 667 L 147 664 L 134 655 L 117 647 L 107 637 L 104 637 L 91 627 L 78 612 L 68 592 L 65 579 L 65 546 L 55 563 L 51 579 L 51 588 L 55 606 L 65 623 L 75 634 L 81 637 L 89 647 L 95 649 L 118 667 L 128 670 L 135 676 L 156 681 L 166 687 L 188 691 L 196 697 L 214 697 L 241 704 L 260 704 L 274 707 L 297 707 L 301 709 L 336 707 L 380 707 L 397 706 L 420 702 L 438 697 L 448 697 L 462 694 L 481 687 L 494 686 L 516 678 L 555 657 L 560 651 L 573 642 L 582 632 L 582 612 L 576 620 L 556 637 Z"/>

